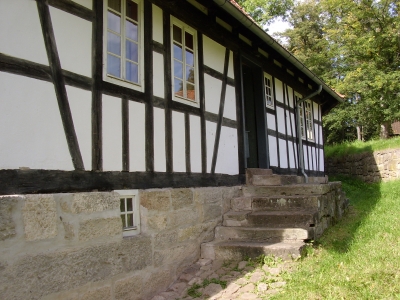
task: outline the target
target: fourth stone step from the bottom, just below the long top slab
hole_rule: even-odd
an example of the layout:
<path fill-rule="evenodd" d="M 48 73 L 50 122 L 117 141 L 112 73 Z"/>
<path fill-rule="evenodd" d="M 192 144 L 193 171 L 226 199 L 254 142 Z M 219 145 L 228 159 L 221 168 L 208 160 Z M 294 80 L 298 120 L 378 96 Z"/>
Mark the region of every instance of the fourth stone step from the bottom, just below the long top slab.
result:
<path fill-rule="evenodd" d="M 239 197 L 231 200 L 234 211 L 252 210 L 298 210 L 303 208 L 317 208 L 321 195 L 296 195 L 272 197 Z"/>

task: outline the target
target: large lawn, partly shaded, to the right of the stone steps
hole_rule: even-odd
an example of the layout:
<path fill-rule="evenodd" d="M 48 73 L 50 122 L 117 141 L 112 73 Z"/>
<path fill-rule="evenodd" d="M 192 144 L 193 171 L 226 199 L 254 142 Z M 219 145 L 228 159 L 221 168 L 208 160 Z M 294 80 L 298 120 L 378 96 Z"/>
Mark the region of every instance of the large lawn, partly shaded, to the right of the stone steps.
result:
<path fill-rule="evenodd" d="M 400 181 L 334 179 L 349 212 L 309 246 L 273 299 L 400 299 Z"/>

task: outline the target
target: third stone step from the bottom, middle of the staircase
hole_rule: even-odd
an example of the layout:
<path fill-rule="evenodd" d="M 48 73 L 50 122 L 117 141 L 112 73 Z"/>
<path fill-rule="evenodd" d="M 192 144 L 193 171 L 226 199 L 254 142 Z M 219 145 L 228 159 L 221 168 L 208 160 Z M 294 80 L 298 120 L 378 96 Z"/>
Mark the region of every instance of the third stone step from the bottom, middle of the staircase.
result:
<path fill-rule="evenodd" d="M 318 212 L 314 210 L 285 211 L 229 211 L 224 214 L 223 226 L 227 227 L 272 227 L 309 228 L 316 225 Z"/>

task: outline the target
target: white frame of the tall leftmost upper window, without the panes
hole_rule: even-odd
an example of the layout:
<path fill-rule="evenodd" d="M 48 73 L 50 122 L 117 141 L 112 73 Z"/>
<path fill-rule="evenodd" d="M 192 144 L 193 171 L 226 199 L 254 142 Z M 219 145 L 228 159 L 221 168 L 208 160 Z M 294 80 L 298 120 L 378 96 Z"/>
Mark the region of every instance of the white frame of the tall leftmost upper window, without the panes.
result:
<path fill-rule="evenodd" d="M 103 80 L 114 83 L 123 87 L 127 87 L 133 90 L 137 90 L 140 92 L 144 92 L 144 30 L 143 30 L 143 0 L 130 0 L 132 2 L 137 3 L 138 5 L 138 43 L 139 43 L 139 49 L 138 49 L 138 65 L 139 65 L 139 74 L 138 74 L 138 83 L 131 82 L 129 80 L 123 79 L 123 78 L 118 78 L 113 75 L 107 74 L 107 31 L 108 31 L 108 26 L 107 26 L 107 11 L 108 11 L 108 0 L 104 1 L 104 9 L 103 9 Z M 121 0 L 121 14 L 123 17 L 121 19 L 124 19 L 125 14 L 126 14 L 126 4 L 125 0 Z M 121 21 L 122 22 L 122 21 Z M 126 40 L 126 35 L 125 35 L 125 26 L 121 26 L 121 36 L 122 41 L 121 41 L 121 59 L 123 62 L 121 63 L 121 72 L 124 74 L 125 70 L 125 62 L 126 58 L 125 57 L 125 40 Z"/>

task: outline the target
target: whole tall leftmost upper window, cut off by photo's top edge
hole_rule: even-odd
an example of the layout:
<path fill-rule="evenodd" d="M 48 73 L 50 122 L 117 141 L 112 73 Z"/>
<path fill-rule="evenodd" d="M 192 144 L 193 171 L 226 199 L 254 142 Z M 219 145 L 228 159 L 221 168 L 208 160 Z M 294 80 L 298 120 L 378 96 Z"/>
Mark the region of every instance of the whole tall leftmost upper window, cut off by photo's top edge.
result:
<path fill-rule="evenodd" d="M 108 0 L 104 9 L 104 79 L 143 90 L 141 0 Z"/>

